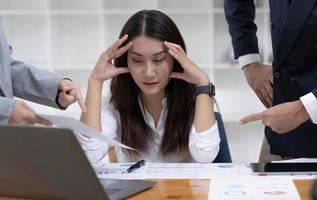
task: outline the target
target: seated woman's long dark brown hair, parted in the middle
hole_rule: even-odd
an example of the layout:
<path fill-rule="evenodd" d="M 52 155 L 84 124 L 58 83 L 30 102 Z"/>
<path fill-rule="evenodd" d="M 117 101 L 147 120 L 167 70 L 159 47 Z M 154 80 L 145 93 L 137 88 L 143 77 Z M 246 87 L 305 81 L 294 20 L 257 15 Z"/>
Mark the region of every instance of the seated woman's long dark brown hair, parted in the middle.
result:
<path fill-rule="evenodd" d="M 125 34 L 128 34 L 129 38 L 123 45 L 137 36 L 144 35 L 179 44 L 186 51 L 183 37 L 173 20 L 157 10 L 142 10 L 132 15 L 123 26 L 120 38 Z M 173 63 L 173 71 L 183 71 L 175 59 Z M 117 67 L 126 67 L 127 53 L 115 59 L 114 64 Z M 114 77 L 110 91 L 110 102 L 120 113 L 121 142 L 141 152 L 148 152 L 151 148 L 149 143 L 153 140 L 152 131 L 143 117 L 138 101 L 140 89 L 131 74 Z M 168 113 L 160 153 L 187 153 L 195 108 L 193 85 L 180 79 L 171 79 L 165 88 L 165 94 Z"/>

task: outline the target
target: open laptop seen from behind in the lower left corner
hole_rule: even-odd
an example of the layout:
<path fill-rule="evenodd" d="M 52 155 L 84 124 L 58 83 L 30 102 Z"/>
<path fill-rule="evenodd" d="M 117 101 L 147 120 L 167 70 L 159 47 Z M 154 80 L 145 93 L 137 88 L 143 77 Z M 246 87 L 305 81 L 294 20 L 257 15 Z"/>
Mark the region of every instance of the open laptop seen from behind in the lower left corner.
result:
<path fill-rule="evenodd" d="M 71 130 L 0 126 L 0 196 L 123 199 L 152 186 L 99 180 Z"/>

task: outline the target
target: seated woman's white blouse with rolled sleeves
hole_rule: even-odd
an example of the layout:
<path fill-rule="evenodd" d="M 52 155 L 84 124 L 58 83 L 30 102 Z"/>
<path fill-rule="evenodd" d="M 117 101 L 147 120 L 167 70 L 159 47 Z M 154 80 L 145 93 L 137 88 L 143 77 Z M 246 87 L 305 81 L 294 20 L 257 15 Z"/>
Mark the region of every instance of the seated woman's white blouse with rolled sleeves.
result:
<path fill-rule="evenodd" d="M 140 100 L 139 104 L 141 104 Z M 121 148 L 116 148 L 118 162 L 136 162 L 140 159 L 144 159 L 148 162 L 212 162 L 219 151 L 220 137 L 217 123 L 201 133 L 197 133 L 194 125 L 192 125 L 188 144 L 190 153 L 170 153 L 164 156 L 160 155 L 159 150 L 167 117 L 166 98 L 162 100 L 162 106 L 163 110 L 156 127 L 151 114 L 146 110 L 143 110 L 145 121 L 152 129 L 152 134 L 154 136 L 153 141 L 148 145 L 148 152 L 139 152 L 139 156 L 131 156 L 122 151 Z M 140 107 L 143 108 L 143 106 Z M 120 123 L 119 112 L 114 106 L 110 103 L 104 104 L 101 113 L 102 134 L 120 142 Z M 109 145 L 107 143 L 94 138 L 88 139 L 83 136 L 79 137 L 79 141 L 92 164 L 102 164 L 106 162 L 105 158 L 109 150 Z"/>

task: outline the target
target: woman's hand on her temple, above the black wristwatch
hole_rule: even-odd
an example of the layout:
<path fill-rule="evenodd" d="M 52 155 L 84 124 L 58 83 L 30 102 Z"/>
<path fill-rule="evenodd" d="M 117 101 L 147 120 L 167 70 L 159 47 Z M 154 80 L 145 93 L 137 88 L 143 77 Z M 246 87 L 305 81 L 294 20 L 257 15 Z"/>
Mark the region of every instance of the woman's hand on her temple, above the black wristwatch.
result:
<path fill-rule="evenodd" d="M 171 78 L 183 79 L 196 86 L 208 85 L 208 76 L 194 64 L 186 55 L 184 49 L 171 42 L 164 42 L 164 45 L 168 48 L 168 53 L 173 56 L 183 67 L 184 72 L 172 72 Z"/>

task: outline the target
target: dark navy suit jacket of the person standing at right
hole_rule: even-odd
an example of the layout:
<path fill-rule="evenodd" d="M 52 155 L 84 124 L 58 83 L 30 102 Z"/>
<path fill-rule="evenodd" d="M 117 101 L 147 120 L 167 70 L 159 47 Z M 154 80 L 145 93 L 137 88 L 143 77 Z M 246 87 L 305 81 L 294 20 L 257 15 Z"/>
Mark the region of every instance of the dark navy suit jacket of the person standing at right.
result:
<path fill-rule="evenodd" d="M 289 1 L 270 0 L 274 105 L 309 92 L 317 96 L 316 0 Z M 253 0 L 225 0 L 225 14 L 235 58 L 258 53 Z M 317 125 L 311 121 L 282 135 L 266 127 L 265 134 L 274 154 L 317 157 Z"/>

